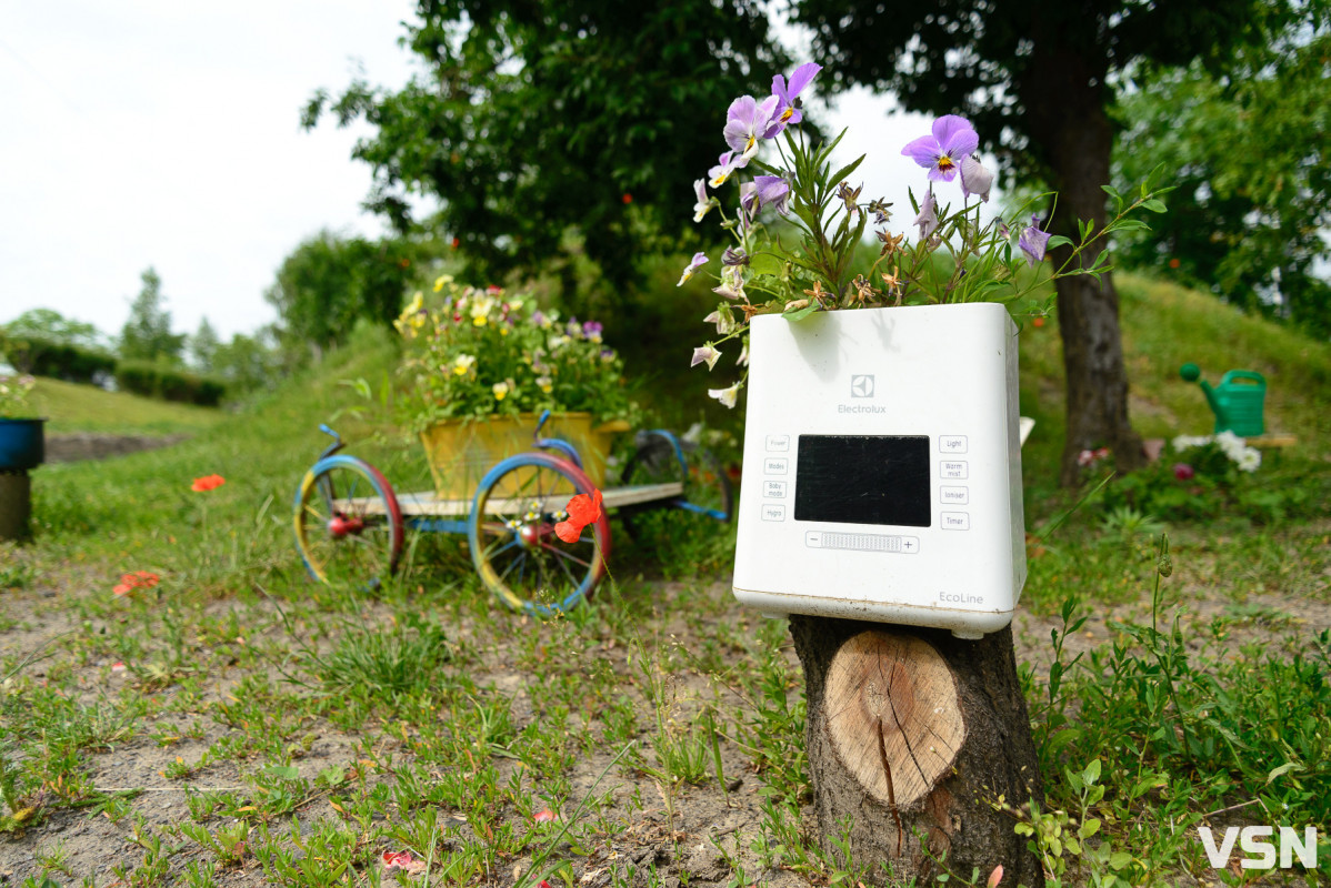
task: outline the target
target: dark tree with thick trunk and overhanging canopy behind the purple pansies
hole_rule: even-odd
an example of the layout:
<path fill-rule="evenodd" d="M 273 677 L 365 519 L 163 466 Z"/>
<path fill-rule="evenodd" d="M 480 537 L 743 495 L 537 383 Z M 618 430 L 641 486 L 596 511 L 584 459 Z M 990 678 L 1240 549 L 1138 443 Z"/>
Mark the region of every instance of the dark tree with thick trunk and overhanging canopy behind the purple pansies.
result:
<path fill-rule="evenodd" d="M 1049 230 L 1077 241 L 1077 221 L 1102 229 L 1114 124 L 1109 108 L 1125 70 L 1141 61 L 1223 68 L 1291 20 L 1324 16 L 1324 0 L 793 0 L 815 32 L 815 57 L 840 86 L 893 90 L 913 110 L 961 113 L 1021 178 L 1059 193 Z M 996 145 L 997 144 L 997 145 Z M 1054 265 L 1067 246 L 1050 251 Z M 1087 251 L 1083 267 L 1098 259 Z M 1066 371 L 1067 440 L 1061 479 L 1078 479 L 1077 453 L 1106 444 L 1122 468 L 1139 465 L 1127 421 L 1127 376 L 1113 278 L 1058 282 Z"/>

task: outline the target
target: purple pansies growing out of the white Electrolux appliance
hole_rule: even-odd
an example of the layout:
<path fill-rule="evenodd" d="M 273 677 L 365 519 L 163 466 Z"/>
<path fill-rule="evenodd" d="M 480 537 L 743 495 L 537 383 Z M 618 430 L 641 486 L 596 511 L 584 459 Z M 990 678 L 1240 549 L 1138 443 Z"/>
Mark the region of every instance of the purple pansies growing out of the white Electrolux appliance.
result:
<path fill-rule="evenodd" d="M 820 70 L 808 62 L 789 80 L 773 77 L 769 96 L 741 96 L 731 102 L 723 130 L 728 150 L 693 183 L 693 221 L 701 222 L 716 210 L 733 245 L 725 247 L 717 265 L 705 253 L 695 254 L 680 275 L 683 286 L 704 269 L 719 267 L 713 292 L 721 300 L 704 319 L 715 324 L 716 335 L 693 350 L 692 366 L 712 370 L 729 352 L 747 368 L 748 323 L 760 314 L 800 320 L 816 311 L 844 308 L 1002 302 L 1018 314 L 1044 315 L 1050 296 L 1032 295 L 1044 292 L 1044 282 L 1020 273 L 1024 265 L 1033 269 L 1041 263 L 1047 250 L 1071 243 L 1051 235 L 1030 211 L 1053 195 L 1032 198 L 1013 221 L 985 222 L 981 205 L 989 201 L 994 173 L 977 156 L 980 134 L 970 122 L 946 114 L 901 150 L 924 167 L 926 185 L 922 198 L 909 193 L 916 237 L 893 233 L 890 205 L 861 199 L 862 185 L 851 186 L 865 156 L 833 171 L 832 153 L 845 130 L 831 144 L 812 144 L 800 128 L 800 96 Z M 737 199 L 729 202 L 727 213 L 727 202 L 709 191 L 732 179 L 739 183 Z M 1138 207 L 1163 211 L 1158 195 L 1165 190 L 1153 191 L 1147 181 L 1127 199 L 1106 187 L 1115 202 L 1113 219 L 1099 231 L 1081 223 L 1081 242 L 1050 277 L 1106 271 L 1107 253 L 1085 266 L 1079 254 L 1111 231 L 1145 227 L 1127 215 Z M 870 226 L 881 245 L 878 255 L 868 273 L 856 273 L 856 251 Z M 735 407 L 743 386 L 744 376 L 708 393 Z"/>

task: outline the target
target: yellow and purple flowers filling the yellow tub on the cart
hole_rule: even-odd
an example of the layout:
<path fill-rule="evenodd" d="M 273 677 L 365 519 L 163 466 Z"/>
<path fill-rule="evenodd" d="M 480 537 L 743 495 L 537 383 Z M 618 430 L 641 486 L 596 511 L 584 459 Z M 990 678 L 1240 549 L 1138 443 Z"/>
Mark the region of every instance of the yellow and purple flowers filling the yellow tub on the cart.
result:
<path fill-rule="evenodd" d="M 450 419 L 587 411 L 630 412 L 623 360 L 595 320 L 560 319 L 528 294 L 470 287 L 443 275 L 438 303 L 417 292 L 394 322 L 407 343 L 401 401 L 414 431 Z"/>

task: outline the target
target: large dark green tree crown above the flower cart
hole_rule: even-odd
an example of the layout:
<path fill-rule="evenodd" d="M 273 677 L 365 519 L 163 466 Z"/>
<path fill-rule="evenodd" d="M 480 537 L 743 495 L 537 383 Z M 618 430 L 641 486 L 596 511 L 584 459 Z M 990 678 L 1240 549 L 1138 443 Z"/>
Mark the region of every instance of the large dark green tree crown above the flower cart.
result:
<path fill-rule="evenodd" d="M 550 263 L 566 290 L 580 253 L 622 283 L 677 249 L 725 106 L 784 65 L 759 0 L 419 0 L 405 27 L 422 73 L 319 90 L 305 125 L 369 122 L 369 206 L 409 230 L 407 194 L 439 198 L 473 278 Z"/>

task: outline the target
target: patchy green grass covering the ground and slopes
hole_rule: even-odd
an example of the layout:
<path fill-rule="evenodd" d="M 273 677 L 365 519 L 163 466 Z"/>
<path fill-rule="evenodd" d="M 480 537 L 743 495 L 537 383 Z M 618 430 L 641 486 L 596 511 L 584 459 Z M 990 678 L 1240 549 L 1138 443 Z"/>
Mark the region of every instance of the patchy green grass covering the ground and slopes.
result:
<path fill-rule="evenodd" d="M 1283 380 L 1324 380 L 1326 346 L 1121 286 L 1134 396 L 1159 409 L 1138 413 L 1143 432 L 1206 421 L 1175 362 L 1270 368 L 1268 416 L 1300 437 L 1278 468 L 1315 477 L 1319 392 Z M 1225 324 L 1233 351 L 1211 344 Z M 1050 327 L 1022 335 L 1040 489 L 1057 464 L 1057 347 Z M 733 604 L 732 534 L 654 516 L 635 541 L 616 521 L 612 578 L 544 621 L 500 608 L 454 538 L 409 540 L 377 589 L 306 580 L 290 509 L 319 421 L 399 489 L 430 487 L 418 445 L 383 423 L 394 360 L 361 331 L 246 411 L 209 412 L 206 435 L 35 473 L 36 541 L 0 546 L 0 871 L 32 885 L 868 884 L 844 839 L 824 847 L 808 822 L 799 665 L 784 622 Z M 214 472 L 225 485 L 190 491 Z M 1067 505 L 1032 497 L 1030 525 Z M 1326 875 L 1213 871 L 1197 828 L 1331 823 L 1328 534 L 1303 513 L 1187 524 L 1090 505 L 1032 549 L 1018 661 L 1047 798 L 1017 819 L 1054 884 Z M 132 570 L 161 582 L 112 594 Z M 415 872 L 385 865 L 402 851 Z"/>

